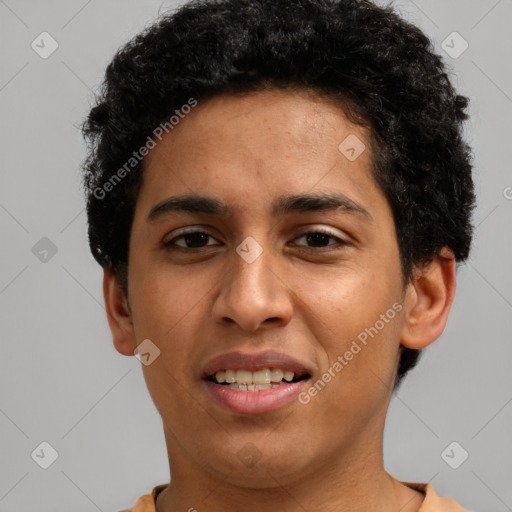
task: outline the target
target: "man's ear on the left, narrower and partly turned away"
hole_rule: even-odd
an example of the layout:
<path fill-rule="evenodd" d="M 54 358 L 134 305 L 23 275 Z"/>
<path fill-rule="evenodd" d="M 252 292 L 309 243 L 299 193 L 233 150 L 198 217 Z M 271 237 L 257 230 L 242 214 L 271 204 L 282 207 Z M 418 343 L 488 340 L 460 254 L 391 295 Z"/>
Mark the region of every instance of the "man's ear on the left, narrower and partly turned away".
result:
<path fill-rule="evenodd" d="M 137 342 L 130 307 L 116 275 L 107 269 L 103 269 L 103 297 L 114 347 L 125 356 L 133 356 Z"/>

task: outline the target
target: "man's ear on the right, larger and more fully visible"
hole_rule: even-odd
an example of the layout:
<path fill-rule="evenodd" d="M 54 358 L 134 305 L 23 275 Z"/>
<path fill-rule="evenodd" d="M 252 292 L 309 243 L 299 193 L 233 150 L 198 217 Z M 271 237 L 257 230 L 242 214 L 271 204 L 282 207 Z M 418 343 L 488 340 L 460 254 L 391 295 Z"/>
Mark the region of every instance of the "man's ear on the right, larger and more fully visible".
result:
<path fill-rule="evenodd" d="M 421 349 L 441 336 L 456 288 L 455 257 L 444 247 L 432 262 L 415 268 L 405 299 L 401 344 Z"/>

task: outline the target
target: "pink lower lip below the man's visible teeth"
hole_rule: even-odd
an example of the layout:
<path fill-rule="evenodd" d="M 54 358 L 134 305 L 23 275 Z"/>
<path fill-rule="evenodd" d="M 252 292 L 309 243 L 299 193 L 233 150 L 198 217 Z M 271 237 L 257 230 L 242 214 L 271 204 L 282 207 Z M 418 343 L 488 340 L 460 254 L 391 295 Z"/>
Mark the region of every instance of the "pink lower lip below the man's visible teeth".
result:
<path fill-rule="evenodd" d="M 281 384 L 263 391 L 239 391 L 210 380 L 203 381 L 213 399 L 224 409 L 240 414 L 274 411 L 297 399 L 308 379 Z"/>

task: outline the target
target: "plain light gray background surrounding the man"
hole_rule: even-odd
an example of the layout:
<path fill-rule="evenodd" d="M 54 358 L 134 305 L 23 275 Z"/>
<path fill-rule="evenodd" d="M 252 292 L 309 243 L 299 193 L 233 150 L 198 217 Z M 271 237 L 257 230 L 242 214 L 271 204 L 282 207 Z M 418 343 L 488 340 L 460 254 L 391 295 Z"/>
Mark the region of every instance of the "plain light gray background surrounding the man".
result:
<path fill-rule="evenodd" d="M 449 324 L 392 400 L 386 467 L 475 512 L 512 511 L 512 2 L 394 4 L 472 100 L 479 206 Z M 78 126 L 115 50 L 174 5 L 0 0 L 1 512 L 114 511 L 168 482 L 140 363 L 111 342 L 87 246 Z M 31 48 L 43 31 L 59 44 L 47 59 Z M 457 58 L 441 46 L 453 31 L 469 44 Z M 58 452 L 48 469 L 31 457 L 43 441 Z M 453 441 L 469 453 L 458 469 L 441 455 Z M 449 453 L 460 460 L 460 448 Z"/>

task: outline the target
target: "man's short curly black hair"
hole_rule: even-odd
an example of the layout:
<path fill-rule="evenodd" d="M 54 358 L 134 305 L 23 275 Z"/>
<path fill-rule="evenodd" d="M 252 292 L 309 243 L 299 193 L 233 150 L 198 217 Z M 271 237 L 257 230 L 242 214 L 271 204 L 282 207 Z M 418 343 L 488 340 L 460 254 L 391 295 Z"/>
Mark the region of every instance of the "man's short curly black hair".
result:
<path fill-rule="evenodd" d="M 418 27 L 368 0 L 193 0 L 116 53 L 82 126 L 90 248 L 126 296 L 144 169 L 144 159 L 132 159 L 126 170 L 134 150 L 191 98 L 269 87 L 319 93 L 370 128 L 404 282 L 444 246 L 457 263 L 467 258 L 475 206 L 462 134 L 468 99 Z M 401 350 L 395 389 L 420 355 Z"/>

